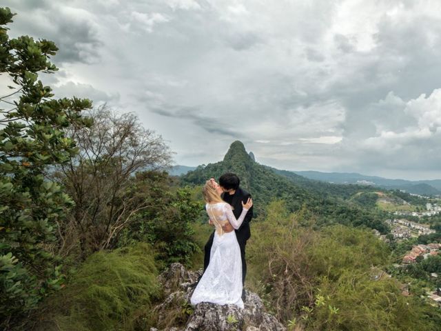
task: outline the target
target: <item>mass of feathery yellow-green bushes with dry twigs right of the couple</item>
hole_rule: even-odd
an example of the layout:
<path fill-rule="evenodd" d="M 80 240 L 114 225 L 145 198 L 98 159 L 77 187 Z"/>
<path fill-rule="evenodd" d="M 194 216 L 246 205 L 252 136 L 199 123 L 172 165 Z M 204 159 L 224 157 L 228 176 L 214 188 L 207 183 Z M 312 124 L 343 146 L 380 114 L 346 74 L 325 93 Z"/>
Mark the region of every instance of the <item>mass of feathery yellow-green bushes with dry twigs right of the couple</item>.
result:
<path fill-rule="evenodd" d="M 281 201 L 268 208 L 249 242 L 249 281 L 291 328 L 296 321 L 300 330 L 437 330 L 440 312 L 402 296 L 402 285 L 382 272 L 390 252 L 370 231 L 313 230 L 307 210 L 287 215 Z M 312 228 L 300 226 L 307 223 Z"/>

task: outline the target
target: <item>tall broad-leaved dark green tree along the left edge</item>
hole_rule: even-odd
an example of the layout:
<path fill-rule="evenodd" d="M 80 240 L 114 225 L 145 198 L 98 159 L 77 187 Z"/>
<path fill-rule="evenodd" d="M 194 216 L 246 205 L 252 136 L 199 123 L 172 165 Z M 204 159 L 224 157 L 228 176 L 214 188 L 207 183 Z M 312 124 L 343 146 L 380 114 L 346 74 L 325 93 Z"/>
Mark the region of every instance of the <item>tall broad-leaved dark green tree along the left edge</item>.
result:
<path fill-rule="evenodd" d="M 0 320 L 33 308 L 61 274 L 48 244 L 73 201 L 43 176 L 76 152 L 66 137 L 70 126 L 90 125 L 81 111 L 87 99 L 52 99 L 39 72 L 53 73 L 49 61 L 58 48 L 28 36 L 10 39 L 6 25 L 14 14 L 0 8 L 0 74 L 10 78 L 10 94 L 0 97 Z"/>

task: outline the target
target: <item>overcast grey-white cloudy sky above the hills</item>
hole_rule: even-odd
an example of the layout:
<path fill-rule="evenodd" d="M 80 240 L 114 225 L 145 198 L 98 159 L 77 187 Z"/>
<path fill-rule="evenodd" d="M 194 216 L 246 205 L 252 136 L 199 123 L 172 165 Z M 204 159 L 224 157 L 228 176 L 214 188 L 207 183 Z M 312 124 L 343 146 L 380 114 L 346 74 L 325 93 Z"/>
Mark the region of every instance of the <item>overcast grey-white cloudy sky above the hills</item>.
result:
<path fill-rule="evenodd" d="M 10 0 L 57 96 L 136 112 L 183 165 L 441 178 L 441 1 Z"/>

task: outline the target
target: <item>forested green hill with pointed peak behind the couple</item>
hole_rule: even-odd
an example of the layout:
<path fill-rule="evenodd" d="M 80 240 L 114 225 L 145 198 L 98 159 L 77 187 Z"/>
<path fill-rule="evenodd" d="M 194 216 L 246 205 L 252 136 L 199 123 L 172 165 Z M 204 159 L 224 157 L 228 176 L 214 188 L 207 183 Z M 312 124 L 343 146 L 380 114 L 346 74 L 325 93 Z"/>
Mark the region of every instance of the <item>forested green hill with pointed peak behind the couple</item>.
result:
<path fill-rule="evenodd" d="M 234 172 L 240 177 L 240 185 L 254 197 L 256 214 L 265 210 L 265 206 L 273 199 L 284 199 L 289 211 L 305 207 L 314 213 L 317 223 L 343 223 L 365 225 L 385 232 L 387 227 L 382 222 L 380 212 L 367 210 L 334 197 L 327 190 L 320 190 L 320 183 L 300 177 L 296 183 L 283 175 L 274 172 L 273 168 L 254 161 L 240 141 L 234 141 L 229 147 L 223 161 L 201 165 L 181 177 L 183 184 L 201 185 L 209 177 L 220 177 L 225 172 Z M 307 185 L 307 184 L 310 185 Z M 331 185 L 331 184 L 327 184 Z M 341 188 L 339 188 L 340 190 Z M 336 190 L 337 192 L 337 190 Z"/>

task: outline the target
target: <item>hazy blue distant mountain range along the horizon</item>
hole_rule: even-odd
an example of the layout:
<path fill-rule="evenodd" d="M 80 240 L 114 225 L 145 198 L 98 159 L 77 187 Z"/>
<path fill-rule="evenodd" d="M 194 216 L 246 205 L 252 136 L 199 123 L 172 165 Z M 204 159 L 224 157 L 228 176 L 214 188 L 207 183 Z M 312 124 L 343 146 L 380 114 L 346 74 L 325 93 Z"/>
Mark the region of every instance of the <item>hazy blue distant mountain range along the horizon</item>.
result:
<path fill-rule="evenodd" d="M 254 160 L 254 155 L 250 153 L 250 157 Z M 188 167 L 186 165 L 176 165 L 170 170 L 172 176 L 181 176 L 189 171 L 195 170 L 196 167 Z M 371 185 L 386 190 L 404 190 L 411 194 L 419 194 L 422 196 L 441 195 L 441 179 L 433 179 L 427 181 L 407 181 L 405 179 L 387 179 L 378 176 L 367 176 L 358 174 L 357 172 L 319 172 L 319 171 L 289 171 L 276 170 L 278 174 L 287 175 L 289 172 L 314 179 L 315 181 L 325 181 L 327 183 L 336 184 L 358 184 Z"/>

